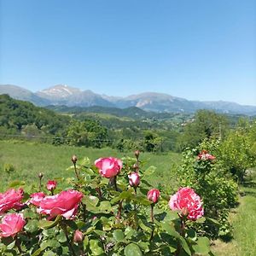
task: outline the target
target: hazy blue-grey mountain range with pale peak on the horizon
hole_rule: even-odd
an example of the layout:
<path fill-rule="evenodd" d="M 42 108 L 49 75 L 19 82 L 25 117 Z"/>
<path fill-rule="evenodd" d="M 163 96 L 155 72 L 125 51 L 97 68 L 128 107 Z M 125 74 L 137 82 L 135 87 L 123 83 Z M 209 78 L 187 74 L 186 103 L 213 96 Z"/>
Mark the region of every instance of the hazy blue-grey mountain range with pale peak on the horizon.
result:
<path fill-rule="evenodd" d="M 67 107 L 137 107 L 153 112 L 189 112 L 198 109 L 212 109 L 218 113 L 256 114 L 256 106 L 244 106 L 235 102 L 199 102 L 163 93 L 145 92 L 137 95 L 120 97 L 96 94 L 91 90 L 80 90 L 66 84 L 57 84 L 44 90 L 32 92 L 12 84 L 0 84 L 0 94 L 23 101 L 32 102 L 37 106 L 67 106 Z"/>

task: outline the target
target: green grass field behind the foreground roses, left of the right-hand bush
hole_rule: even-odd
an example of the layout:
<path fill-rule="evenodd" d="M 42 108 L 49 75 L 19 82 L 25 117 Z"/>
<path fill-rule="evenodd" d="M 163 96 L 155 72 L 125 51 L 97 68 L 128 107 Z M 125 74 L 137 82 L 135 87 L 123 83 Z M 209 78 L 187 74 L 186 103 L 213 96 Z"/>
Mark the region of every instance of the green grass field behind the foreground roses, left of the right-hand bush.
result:
<path fill-rule="evenodd" d="M 74 177 L 74 173 L 67 171 L 72 166 L 71 157 L 76 154 L 79 159 L 89 157 L 91 164 L 100 157 L 133 156 L 131 153 L 120 153 L 112 148 L 81 148 L 71 146 L 53 146 L 42 143 L 28 143 L 20 141 L 0 141 L 0 191 L 7 189 L 14 180 L 24 180 L 26 183 L 38 182 L 38 173 L 44 173 L 44 182 L 54 177 Z M 179 162 L 180 154 L 148 154 L 142 153 L 140 160 L 146 162 L 144 168 L 156 166 L 155 175 L 150 181 L 154 186 L 158 183 L 170 182 L 172 166 Z M 15 166 L 14 172 L 4 172 L 3 166 Z M 170 184 L 171 185 L 171 184 Z"/>

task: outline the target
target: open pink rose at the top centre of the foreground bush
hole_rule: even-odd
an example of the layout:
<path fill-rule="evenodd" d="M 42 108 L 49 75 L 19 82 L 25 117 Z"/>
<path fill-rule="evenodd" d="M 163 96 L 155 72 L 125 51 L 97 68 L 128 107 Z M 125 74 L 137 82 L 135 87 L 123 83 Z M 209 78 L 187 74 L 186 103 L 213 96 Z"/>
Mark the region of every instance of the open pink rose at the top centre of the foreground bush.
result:
<path fill-rule="evenodd" d="M 99 158 L 95 161 L 95 165 L 102 177 L 117 176 L 123 167 L 122 161 L 114 157 Z"/>

